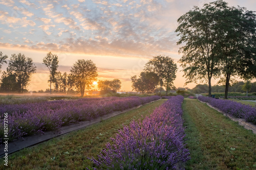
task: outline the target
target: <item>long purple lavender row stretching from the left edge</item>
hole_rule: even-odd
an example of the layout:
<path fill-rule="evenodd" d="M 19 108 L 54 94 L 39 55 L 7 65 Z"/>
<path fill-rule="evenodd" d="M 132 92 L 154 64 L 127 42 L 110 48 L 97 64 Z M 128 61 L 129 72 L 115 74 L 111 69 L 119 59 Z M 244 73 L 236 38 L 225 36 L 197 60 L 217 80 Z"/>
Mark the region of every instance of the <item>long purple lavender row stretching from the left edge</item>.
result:
<path fill-rule="evenodd" d="M 122 111 L 160 99 L 159 96 L 140 98 L 90 98 L 70 101 L 51 101 L 22 105 L 3 105 L 1 113 L 8 113 L 8 137 L 57 130 L 70 123 L 91 120 L 113 111 Z M 4 136 L 4 119 L 0 119 L 0 141 Z"/>

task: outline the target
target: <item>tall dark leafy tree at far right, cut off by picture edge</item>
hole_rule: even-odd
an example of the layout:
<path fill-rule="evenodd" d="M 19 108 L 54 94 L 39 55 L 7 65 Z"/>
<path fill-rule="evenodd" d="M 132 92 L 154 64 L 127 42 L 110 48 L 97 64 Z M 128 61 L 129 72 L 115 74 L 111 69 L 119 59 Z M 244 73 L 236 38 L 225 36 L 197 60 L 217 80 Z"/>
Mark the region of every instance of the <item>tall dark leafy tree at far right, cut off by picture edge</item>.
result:
<path fill-rule="evenodd" d="M 225 99 L 228 95 L 230 77 L 244 80 L 256 76 L 256 14 L 241 7 L 226 7 L 221 13 L 222 27 L 220 47 L 220 70 L 225 77 Z"/>

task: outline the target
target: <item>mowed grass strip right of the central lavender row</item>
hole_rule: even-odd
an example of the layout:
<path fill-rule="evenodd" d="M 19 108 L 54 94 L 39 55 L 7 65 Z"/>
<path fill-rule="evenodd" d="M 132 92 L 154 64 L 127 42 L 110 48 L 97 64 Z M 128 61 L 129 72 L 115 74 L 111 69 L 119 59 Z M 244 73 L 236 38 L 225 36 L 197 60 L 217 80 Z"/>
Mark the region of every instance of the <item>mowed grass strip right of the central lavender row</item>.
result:
<path fill-rule="evenodd" d="M 256 169 L 256 135 L 198 100 L 185 99 L 186 169 Z"/>

